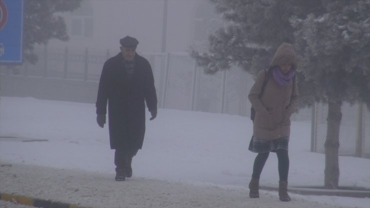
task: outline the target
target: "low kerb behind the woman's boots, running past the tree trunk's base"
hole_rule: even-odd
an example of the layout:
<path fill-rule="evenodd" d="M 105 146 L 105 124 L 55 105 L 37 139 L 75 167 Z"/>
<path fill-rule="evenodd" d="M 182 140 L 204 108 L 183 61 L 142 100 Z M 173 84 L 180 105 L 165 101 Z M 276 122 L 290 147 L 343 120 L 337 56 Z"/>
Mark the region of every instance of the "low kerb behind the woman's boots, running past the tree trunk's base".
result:
<path fill-rule="evenodd" d="M 278 187 L 259 186 L 262 190 L 276 190 Z M 343 189 L 323 189 L 323 188 L 309 188 L 309 187 L 290 187 L 288 192 L 298 193 L 301 195 L 335 195 L 355 198 L 370 198 L 370 191 L 367 190 L 343 190 Z"/>

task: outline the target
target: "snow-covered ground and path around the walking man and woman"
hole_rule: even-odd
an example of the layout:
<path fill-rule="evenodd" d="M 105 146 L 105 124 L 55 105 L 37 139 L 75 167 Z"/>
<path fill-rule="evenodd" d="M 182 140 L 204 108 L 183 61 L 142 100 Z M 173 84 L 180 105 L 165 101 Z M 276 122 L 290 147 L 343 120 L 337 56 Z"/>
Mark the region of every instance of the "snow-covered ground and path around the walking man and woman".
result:
<path fill-rule="evenodd" d="M 281 202 L 276 191 L 248 198 L 251 128 L 248 117 L 159 109 L 147 119 L 134 176 L 116 182 L 108 129 L 97 126 L 94 104 L 0 97 L 0 163 L 11 164 L 0 167 L 0 192 L 93 207 L 370 207 L 370 198 L 293 193 Z M 289 186 L 323 184 L 324 155 L 309 148 L 310 123 L 292 122 Z M 340 156 L 339 167 L 340 186 L 370 188 L 369 159 Z M 271 153 L 260 184 L 277 181 Z"/>

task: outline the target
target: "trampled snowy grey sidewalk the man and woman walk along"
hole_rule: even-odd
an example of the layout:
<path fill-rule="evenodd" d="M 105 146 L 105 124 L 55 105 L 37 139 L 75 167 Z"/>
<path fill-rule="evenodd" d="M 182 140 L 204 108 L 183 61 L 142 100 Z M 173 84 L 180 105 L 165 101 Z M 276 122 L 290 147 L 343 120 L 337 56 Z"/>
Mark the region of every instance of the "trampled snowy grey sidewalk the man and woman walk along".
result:
<path fill-rule="evenodd" d="M 245 188 L 135 176 L 116 182 L 113 176 L 2 161 L 0 192 L 85 207 L 344 207 L 307 200 L 294 193 L 290 194 L 290 202 L 281 202 L 276 191 L 261 190 L 259 199 L 251 199 Z M 6 207 L 11 206 L 7 203 Z"/>

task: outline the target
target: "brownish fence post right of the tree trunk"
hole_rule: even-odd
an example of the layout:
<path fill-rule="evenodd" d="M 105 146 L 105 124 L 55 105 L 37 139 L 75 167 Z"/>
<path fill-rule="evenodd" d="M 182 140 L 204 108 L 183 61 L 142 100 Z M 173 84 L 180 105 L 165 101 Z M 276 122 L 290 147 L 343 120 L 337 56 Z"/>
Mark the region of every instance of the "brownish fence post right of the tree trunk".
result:
<path fill-rule="evenodd" d="M 358 102 L 356 105 L 356 149 L 355 156 L 362 157 L 363 155 L 363 103 Z"/>

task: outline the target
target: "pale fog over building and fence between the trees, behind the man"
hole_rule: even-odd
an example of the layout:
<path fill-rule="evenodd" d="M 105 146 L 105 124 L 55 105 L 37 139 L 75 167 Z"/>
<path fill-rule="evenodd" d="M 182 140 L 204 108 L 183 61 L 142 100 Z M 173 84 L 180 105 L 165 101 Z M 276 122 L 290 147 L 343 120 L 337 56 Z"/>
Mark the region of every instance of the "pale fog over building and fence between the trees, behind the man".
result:
<path fill-rule="evenodd" d="M 139 41 L 136 52 L 151 64 L 158 107 L 248 115 L 251 76 L 237 67 L 206 75 L 188 55 L 190 45 L 206 45 L 221 25 L 208 0 L 84 0 L 59 15 L 69 40 L 36 45 L 37 63 L 6 71 L 22 80 L 3 80 L 2 95 L 94 103 L 104 61 L 119 52 L 119 39 L 130 35 Z"/>

